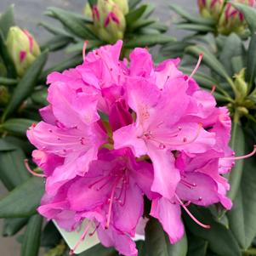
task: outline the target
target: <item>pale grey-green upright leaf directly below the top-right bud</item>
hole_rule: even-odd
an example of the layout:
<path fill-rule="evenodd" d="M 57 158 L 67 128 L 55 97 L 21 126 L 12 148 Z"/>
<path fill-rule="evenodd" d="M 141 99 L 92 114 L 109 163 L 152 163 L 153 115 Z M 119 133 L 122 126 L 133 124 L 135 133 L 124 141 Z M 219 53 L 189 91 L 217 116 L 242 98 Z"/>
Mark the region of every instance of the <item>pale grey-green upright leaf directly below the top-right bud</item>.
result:
<path fill-rule="evenodd" d="M 225 66 L 225 70 L 230 77 L 234 76 L 236 72 L 234 71 L 230 60 L 236 56 L 241 56 L 242 54 L 244 54 L 244 48 L 241 38 L 235 33 L 230 34 L 225 40 L 222 52 L 219 54 L 219 60 Z"/>

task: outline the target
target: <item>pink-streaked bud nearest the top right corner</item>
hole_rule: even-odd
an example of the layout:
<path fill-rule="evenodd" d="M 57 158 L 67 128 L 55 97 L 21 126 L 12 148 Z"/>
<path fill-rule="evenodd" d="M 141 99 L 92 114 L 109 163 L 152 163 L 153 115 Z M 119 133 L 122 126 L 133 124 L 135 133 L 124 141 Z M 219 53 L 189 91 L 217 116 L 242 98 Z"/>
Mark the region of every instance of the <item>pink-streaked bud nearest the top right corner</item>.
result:
<path fill-rule="evenodd" d="M 251 7 L 253 7 L 255 4 L 255 0 L 236 0 L 234 2 L 247 4 Z M 242 35 L 246 28 L 247 23 L 243 14 L 235 9 L 231 3 L 226 3 L 225 8 L 219 18 L 219 33 L 229 35 L 231 32 L 235 32 Z"/>

